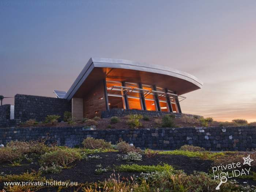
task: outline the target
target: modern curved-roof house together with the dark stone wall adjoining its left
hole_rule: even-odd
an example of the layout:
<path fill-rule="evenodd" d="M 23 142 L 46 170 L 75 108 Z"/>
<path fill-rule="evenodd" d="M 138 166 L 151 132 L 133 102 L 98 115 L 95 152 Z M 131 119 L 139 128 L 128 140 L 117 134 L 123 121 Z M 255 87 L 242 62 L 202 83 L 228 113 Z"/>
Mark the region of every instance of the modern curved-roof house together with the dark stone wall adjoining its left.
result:
<path fill-rule="evenodd" d="M 11 105 L 0 106 L 0 127 L 31 118 L 43 121 L 48 114 L 60 115 L 63 120 L 65 111 L 72 112 L 76 120 L 109 117 L 116 112 L 119 116 L 178 115 L 180 102 L 185 99 L 182 95 L 202 85 L 195 76 L 162 65 L 91 58 L 67 92 L 54 90 L 57 98 L 16 94 L 14 112 Z"/>

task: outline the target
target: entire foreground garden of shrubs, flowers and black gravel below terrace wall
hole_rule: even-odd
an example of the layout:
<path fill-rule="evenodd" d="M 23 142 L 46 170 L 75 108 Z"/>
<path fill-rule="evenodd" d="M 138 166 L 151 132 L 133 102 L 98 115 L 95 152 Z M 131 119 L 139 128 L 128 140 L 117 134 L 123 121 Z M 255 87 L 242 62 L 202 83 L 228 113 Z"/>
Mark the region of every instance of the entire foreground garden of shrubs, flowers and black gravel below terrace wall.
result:
<path fill-rule="evenodd" d="M 220 181 L 214 180 L 214 174 L 221 170 L 213 172 L 212 167 L 243 162 L 248 155 L 256 159 L 254 152 L 211 153 L 193 146 L 175 151 L 142 151 L 125 142 L 113 146 L 91 138 L 83 145 L 89 148 L 48 147 L 43 142 L 7 144 L 0 148 L 0 190 L 216 191 Z M 250 169 L 249 174 L 228 178 L 219 191 L 256 191 L 255 161 L 250 165 L 241 166 Z"/>

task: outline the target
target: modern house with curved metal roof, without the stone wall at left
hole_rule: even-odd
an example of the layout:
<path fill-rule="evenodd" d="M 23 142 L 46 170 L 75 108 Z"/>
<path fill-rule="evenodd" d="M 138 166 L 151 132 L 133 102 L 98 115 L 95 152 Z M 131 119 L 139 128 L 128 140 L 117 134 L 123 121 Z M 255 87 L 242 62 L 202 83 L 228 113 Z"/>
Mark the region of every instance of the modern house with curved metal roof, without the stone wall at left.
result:
<path fill-rule="evenodd" d="M 91 58 L 67 93 L 57 97 L 72 101 L 78 120 L 115 108 L 181 113 L 181 95 L 202 85 L 193 75 L 161 65 Z"/>

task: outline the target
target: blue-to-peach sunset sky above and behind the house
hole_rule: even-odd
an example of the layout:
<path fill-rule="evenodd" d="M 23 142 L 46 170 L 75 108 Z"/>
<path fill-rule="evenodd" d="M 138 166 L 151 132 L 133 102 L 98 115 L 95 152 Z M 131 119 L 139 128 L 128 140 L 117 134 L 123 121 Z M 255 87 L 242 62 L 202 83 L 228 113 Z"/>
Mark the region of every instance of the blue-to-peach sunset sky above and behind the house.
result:
<path fill-rule="evenodd" d="M 0 0 L 0 95 L 55 97 L 90 57 L 188 72 L 183 113 L 256 121 L 255 0 Z"/>

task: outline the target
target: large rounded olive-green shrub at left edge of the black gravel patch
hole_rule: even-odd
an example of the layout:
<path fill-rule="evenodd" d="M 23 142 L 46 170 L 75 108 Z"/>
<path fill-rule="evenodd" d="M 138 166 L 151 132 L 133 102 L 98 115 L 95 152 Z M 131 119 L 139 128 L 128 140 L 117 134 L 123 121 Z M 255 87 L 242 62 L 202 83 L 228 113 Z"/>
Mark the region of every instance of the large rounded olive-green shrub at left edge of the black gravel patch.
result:
<path fill-rule="evenodd" d="M 67 147 L 56 147 L 53 151 L 41 155 L 40 163 L 43 166 L 59 165 L 67 167 L 70 163 L 80 160 L 78 149 Z"/>

